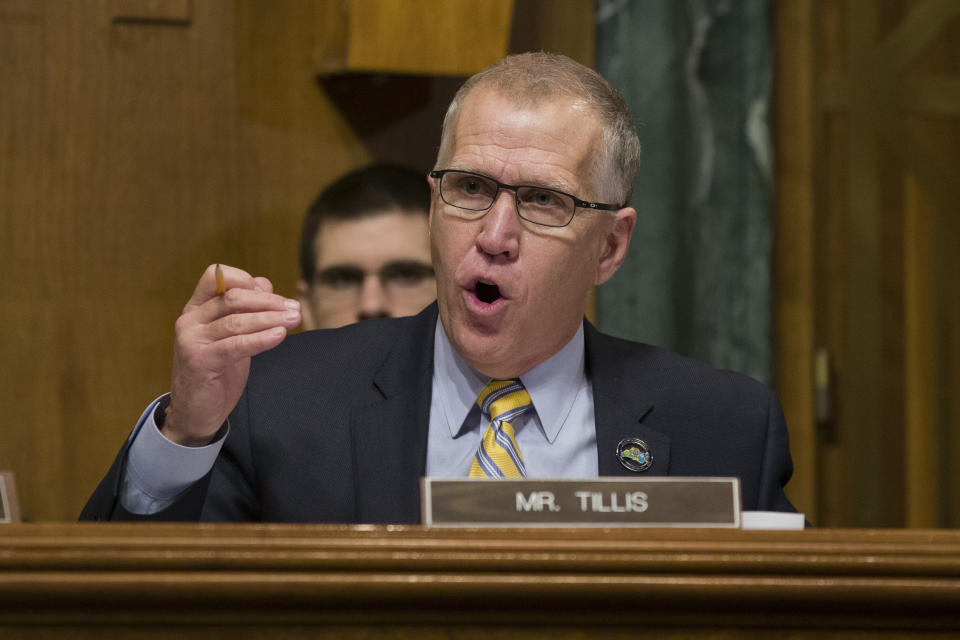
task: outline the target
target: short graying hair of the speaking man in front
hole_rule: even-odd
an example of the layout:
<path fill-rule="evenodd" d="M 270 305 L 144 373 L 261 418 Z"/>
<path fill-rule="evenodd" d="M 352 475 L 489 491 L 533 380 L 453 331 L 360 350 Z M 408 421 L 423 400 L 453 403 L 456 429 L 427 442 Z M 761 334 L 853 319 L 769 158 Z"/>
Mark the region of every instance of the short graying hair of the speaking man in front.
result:
<path fill-rule="evenodd" d="M 640 140 L 623 96 L 596 71 L 570 58 L 545 52 L 520 53 L 503 58 L 467 79 L 450 102 L 443 119 L 435 169 L 453 154 L 453 138 L 460 107 L 478 86 L 491 87 L 512 97 L 519 107 L 557 98 L 582 101 L 600 118 L 603 138 L 593 160 L 597 193 L 609 204 L 626 205 L 640 168 Z"/>

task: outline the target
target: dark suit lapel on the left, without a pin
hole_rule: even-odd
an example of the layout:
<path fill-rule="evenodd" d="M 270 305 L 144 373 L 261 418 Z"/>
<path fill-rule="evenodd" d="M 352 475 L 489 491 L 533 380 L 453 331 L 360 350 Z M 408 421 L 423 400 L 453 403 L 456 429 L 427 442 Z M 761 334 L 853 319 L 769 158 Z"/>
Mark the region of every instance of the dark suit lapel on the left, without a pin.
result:
<path fill-rule="evenodd" d="M 373 378 L 383 399 L 353 408 L 357 521 L 420 521 L 420 478 L 426 470 L 437 306 L 406 320 Z"/>

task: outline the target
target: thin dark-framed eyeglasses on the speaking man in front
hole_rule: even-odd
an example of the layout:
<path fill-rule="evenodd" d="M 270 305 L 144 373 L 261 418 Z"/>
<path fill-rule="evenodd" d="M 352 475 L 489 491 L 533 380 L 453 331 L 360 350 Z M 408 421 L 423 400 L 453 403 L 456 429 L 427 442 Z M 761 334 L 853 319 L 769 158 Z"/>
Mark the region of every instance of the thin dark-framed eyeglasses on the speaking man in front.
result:
<path fill-rule="evenodd" d="M 440 179 L 440 197 L 443 201 L 459 209 L 458 214 L 469 220 L 483 217 L 497 199 L 500 189 L 509 189 L 516 195 L 514 201 L 517 205 L 517 215 L 545 227 L 567 226 L 573 220 L 577 207 L 594 211 L 616 211 L 623 208 L 615 204 L 587 202 L 556 189 L 504 184 L 470 171 L 444 169 L 431 171 L 430 177 Z M 470 215 L 463 213 L 464 211 L 475 213 Z"/>

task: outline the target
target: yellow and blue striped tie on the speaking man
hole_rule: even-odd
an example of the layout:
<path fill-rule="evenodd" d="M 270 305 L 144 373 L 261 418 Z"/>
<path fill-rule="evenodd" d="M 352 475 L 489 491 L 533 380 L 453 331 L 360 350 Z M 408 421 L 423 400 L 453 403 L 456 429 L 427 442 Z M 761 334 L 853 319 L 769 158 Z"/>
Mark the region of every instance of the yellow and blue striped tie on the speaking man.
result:
<path fill-rule="evenodd" d="M 525 478 L 527 468 L 517 446 L 513 421 L 533 408 L 530 394 L 519 379 L 491 380 L 477 397 L 490 426 L 470 465 L 471 478 Z"/>

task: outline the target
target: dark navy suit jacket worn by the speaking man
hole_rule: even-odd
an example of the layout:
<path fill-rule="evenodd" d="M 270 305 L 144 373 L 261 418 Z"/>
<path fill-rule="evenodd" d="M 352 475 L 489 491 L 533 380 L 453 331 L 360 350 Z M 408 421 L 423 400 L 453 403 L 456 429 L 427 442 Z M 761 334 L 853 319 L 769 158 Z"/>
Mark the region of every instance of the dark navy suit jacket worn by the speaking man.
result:
<path fill-rule="evenodd" d="M 288 337 L 254 358 L 213 470 L 153 516 L 117 499 L 126 446 L 81 519 L 416 523 L 426 469 L 437 307 Z M 744 509 L 793 511 L 776 395 L 746 376 L 586 325 L 599 470 L 631 476 L 617 443 L 644 440 L 647 476 L 737 476 Z"/>

